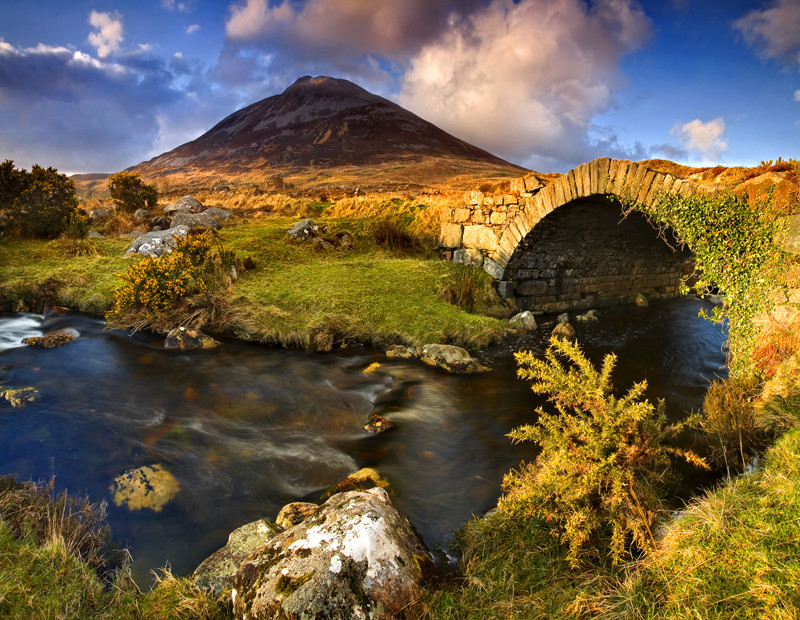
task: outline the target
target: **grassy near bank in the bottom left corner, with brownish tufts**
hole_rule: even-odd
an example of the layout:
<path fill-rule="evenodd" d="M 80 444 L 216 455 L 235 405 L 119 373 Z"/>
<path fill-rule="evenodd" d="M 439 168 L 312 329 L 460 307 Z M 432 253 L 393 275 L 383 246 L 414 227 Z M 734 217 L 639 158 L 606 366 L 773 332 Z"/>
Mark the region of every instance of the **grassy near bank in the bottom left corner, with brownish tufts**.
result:
<path fill-rule="evenodd" d="M 110 545 L 102 504 L 0 477 L 0 617 L 221 620 L 230 614 L 168 569 L 141 592 Z"/>

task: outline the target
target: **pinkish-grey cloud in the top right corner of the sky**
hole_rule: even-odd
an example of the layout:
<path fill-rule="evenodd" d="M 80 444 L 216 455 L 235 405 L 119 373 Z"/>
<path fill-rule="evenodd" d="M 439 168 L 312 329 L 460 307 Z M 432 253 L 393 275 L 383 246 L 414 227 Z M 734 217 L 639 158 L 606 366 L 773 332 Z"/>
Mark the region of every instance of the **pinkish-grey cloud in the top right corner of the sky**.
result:
<path fill-rule="evenodd" d="M 734 22 L 747 43 L 764 58 L 800 65 L 800 2 L 776 0 Z"/>

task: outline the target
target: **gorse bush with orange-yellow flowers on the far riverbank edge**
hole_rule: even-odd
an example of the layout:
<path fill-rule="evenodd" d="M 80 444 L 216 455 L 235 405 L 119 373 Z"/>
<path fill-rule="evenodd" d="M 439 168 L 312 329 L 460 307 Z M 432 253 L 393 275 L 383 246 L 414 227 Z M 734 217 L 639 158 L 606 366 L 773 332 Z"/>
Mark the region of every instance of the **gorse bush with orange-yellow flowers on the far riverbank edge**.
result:
<path fill-rule="evenodd" d="M 179 239 L 171 253 L 145 256 L 119 276 L 124 284 L 114 294 L 106 320 L 115 326 L 153 325 L 188 298 L 207 305 L 230 284 L 234 265 L 233 252 L 216 243 L 211 233 Z"/>

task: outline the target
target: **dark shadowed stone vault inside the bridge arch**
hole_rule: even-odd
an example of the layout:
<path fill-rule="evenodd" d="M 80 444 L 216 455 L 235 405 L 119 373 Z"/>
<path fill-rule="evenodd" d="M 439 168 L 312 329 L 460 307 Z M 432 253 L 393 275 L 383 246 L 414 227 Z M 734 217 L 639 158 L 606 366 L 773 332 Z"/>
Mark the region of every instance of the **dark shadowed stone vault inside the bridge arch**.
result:
<path fill-rule="evenodd" d="M 594 195 L 537 222 L 502 279 L 512 284 L 518 307 L 563 312 L 632 303 L 639 293 L 677 297 L 692 269 L 692 253 L 670 247 L 642 213 L 624 217 L 619 202 Z"/>

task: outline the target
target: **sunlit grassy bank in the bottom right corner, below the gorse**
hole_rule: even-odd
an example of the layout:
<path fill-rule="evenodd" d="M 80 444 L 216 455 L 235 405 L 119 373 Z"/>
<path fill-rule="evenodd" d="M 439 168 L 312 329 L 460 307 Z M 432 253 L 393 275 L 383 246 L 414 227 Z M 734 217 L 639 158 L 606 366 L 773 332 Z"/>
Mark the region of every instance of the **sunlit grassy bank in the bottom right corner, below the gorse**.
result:
<path fill-rule="evenodd" d="M 693 501 L 652 554 L 571 568 L 546 524 L 500 513 L 460 533 L 463 576 L 428 594 L 429 618 L 796 618 L 800 430 L 764 469 Z"/>

